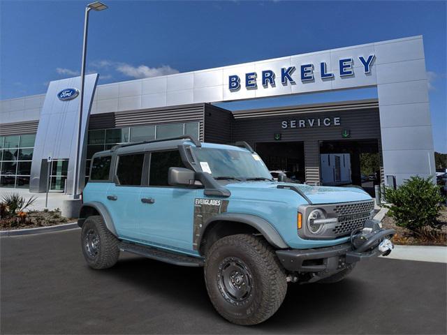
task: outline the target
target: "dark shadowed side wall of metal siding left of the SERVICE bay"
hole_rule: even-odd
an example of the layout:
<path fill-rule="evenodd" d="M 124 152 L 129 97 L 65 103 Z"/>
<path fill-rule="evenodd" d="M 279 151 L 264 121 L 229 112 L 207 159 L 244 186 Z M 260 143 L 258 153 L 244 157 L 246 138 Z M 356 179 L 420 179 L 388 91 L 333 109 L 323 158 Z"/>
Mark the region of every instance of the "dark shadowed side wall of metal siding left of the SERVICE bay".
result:
<path fill-rule="evenodd" d="M 229 110 L 205 104 L 205 142 L 231 142 L 233 121 L 233 114 Z"/>

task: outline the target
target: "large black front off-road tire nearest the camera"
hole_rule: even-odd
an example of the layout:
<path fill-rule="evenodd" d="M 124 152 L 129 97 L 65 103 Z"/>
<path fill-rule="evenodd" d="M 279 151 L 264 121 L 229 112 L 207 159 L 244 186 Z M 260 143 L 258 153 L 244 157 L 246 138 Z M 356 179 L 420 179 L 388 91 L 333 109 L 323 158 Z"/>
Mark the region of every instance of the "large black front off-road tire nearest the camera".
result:
<path fill-rule="evenodd" d="M 231 301 L 223 293 L 221 265 L 228 259 L 240 260 L 251 274 L 251 290 L 242 302 Z M 251 234 L 223 237 L 211 246 L 205 260 L 205 283 L 217 312 L 237 325 L 257 325 L 267 320 L 287 292 L 286 274 L 274 250 L 265 239 Z"/>

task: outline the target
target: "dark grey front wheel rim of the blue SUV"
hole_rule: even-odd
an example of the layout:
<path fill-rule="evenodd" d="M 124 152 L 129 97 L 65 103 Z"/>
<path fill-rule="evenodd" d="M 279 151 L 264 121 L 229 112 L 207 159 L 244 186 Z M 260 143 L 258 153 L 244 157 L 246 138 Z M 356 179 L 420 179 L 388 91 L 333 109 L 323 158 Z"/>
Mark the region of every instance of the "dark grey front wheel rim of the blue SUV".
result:
<path fill-rule="evenodd" d="M 237 257 L 225 258 L 219 265 L 217 285 L 221 295 L 231 304 L 244 304 L 253 290 L 249 267 Z"/>

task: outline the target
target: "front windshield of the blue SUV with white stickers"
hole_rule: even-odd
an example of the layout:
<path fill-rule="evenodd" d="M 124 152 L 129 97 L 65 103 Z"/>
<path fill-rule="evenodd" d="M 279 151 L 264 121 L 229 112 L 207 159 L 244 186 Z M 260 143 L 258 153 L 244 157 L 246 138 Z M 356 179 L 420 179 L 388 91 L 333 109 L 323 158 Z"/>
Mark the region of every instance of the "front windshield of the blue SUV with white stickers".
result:
<path fill-rule="evenodd" d="M 215 179 L 272 179 L 261 157 L 248 151 L 195 148 L 203 172 Z"/>

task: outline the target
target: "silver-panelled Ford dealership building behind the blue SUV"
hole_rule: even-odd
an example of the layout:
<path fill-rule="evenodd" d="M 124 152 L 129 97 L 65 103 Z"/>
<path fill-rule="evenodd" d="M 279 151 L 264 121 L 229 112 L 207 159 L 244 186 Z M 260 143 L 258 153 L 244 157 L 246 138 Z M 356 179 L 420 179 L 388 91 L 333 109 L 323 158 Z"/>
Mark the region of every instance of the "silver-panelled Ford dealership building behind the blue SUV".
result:
<path fill-rule="evenodd" d="M 402 184 L 434 174 L 423 37 L 96 85 L 85 78 L 81 171 L 115 144 L 191 135 L 246 141 L 308 184 Z M 217 103 L 376 87 L 377 98 L 230 111 Z M 0 102 L 0 187 L 73 192 L 80 77 Z M 221 105 L 222 106 L 222 105 Z M 87 178 L 83 174 L 79 185 Z M 49 179 L 48 179 L 49 178 Z"/>

